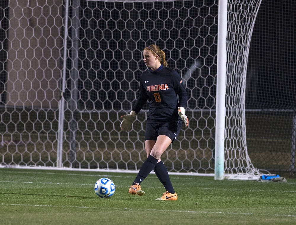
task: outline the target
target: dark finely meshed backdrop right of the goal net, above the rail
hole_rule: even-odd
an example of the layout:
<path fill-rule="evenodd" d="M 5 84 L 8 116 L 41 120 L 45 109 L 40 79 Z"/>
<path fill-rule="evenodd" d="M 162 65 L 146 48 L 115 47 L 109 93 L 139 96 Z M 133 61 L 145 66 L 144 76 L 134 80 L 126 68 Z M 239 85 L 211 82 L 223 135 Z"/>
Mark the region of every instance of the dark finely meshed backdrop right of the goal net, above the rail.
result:
<path fill-rule="evenodd" d="M 247 108 L 296 106 L 296 1 L 262 1 L 247 68 Z"/>

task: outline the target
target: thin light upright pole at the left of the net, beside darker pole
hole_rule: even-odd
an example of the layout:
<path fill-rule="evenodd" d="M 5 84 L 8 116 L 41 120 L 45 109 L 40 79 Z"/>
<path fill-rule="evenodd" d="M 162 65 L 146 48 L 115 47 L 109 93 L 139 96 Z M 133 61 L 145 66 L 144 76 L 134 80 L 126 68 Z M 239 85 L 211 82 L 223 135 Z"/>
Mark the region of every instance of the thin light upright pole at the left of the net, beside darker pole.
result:
<path fill-rule="evenodd" d="M 66 89 L 66 61 L 67 61 L 67 38 L 68 38 L 68 13 L 69 13 L 69 0 L 65 2 L 65 24 L 64 24 L 64 55 L 63 55 L 63 68 L 62 68 L 62 87 L 61 96 L 59 100 L 59 128 L 57 139 L 57 167 L 63 167 L 62 151 L 63 151 L 63 134 L 64 134 L 64 118 L 65 118 L 65 99 L 63 94 Z"/>

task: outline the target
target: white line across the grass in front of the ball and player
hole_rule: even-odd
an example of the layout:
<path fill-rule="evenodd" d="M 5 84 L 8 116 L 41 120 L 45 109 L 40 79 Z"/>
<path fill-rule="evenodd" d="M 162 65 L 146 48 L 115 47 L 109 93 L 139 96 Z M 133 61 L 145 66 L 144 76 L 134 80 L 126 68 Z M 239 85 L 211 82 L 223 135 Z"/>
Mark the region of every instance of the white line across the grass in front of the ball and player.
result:
<path fill-rule="evenodd" d="M 192 210 L 166 210 L 166 209 L 139 209 L 139 208 L 105 208 L 105 207 L 87 207 L 87 206 L 69 206 L 69 205 L 31 205 L 31 204 L 6 204 L 0 203 L 1 206 L 30 206 L 30 207 L 57 207 L 57 208 L 82 208 L 82 209 L 101 209 L 101 210 L 126 210 L 126 211 L 155 211 L 155 212 L 168 212 L 168 213 L 207 213 L 207 214 L 234 214 L 234 215 L 247 215 L 247 216 L 280 216 L 280 217 L 296 217 L 296 215 L 289 214 L 256 214 L 256 213 L 235 213 L 235 212 L 221 212 L 221 211 L 192 211 Z"/>

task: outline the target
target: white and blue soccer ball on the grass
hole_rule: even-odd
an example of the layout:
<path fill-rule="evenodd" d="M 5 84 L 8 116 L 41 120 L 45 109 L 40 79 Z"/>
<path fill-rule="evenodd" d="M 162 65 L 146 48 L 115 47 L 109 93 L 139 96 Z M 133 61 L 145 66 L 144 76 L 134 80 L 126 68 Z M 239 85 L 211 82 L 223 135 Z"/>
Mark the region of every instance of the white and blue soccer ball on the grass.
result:
<path fill-rule="evenodd" d="M 115 185 L 112 180 L 103 177 L 96 181 L 94 192 L 101 198 L 108 198 L 115 192 Z"/>

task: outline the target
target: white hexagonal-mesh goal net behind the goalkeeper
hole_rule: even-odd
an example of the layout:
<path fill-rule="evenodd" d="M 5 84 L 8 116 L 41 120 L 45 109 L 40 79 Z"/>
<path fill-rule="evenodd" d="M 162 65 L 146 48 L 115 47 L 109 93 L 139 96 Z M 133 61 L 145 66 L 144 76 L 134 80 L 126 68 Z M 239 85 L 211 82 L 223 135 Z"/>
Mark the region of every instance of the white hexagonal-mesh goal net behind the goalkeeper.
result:
<path fill-rule="evenodd" d="M 157 44 L 189 96 L 189 127 L 162 160 L 170 172 L 213 173 L 218 0 L 67 2 L 1 1 L 1 165 L 138 170 L 148 107 L 130 132 L 120 116 L 136 100 L 142 50 Z M 227 174 L 259 174 L 247 151 L 245 86 L 260 2 L 228 4 Z"/>

